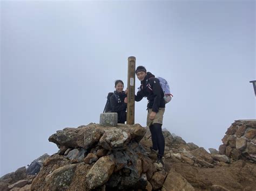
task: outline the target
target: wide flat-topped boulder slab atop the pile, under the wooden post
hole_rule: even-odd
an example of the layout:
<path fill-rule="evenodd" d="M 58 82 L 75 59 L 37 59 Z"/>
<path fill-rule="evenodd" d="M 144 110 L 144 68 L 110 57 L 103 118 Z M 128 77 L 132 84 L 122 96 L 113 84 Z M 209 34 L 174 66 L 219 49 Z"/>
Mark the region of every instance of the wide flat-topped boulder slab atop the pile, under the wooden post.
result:
<path fill-rule="evenodd" d="M 83 126 L 82 128 L 65 128 L 57 131 L 49 137 L 49 141 L 64 145 L 67 148 L 84 148 L 89 150 L 98 144 L 107 150 L 122 148 L 132 139 L 139 142 L 145 135 L 146 130 L 139 124 L 119 125 L 118 127 L 104 127 L 97 124 Z"/>

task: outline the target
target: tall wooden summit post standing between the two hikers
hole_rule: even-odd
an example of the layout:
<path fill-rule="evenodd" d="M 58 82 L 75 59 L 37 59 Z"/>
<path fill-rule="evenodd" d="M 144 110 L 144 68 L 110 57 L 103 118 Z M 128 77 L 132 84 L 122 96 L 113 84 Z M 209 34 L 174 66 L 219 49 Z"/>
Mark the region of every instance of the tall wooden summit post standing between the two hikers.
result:
<path fill-rule="evenodd" d="M 127 94 L 127 116 L 126 124 L 134 124 L 134 95 L 135 95 L 135 62 L 136 58 L 130 56 L 128 58 L 128 80 L 127 89 L 129 93 Z"/>

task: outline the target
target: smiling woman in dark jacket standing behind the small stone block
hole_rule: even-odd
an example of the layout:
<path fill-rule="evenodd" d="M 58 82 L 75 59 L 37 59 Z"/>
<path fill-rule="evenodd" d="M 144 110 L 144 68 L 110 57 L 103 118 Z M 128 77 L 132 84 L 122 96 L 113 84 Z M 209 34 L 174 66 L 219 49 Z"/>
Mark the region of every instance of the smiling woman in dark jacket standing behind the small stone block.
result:
<path fill-rule="evenodd" d="M 113 95 L 110 97 L 111 111 L 117 112 L 118 123 L 124 123 L 126 121 L 126 108 L 127 108 L 127 97 L 124 89 L 124 82 L 122 80 L 117 80 L 114 83 Z"/>

